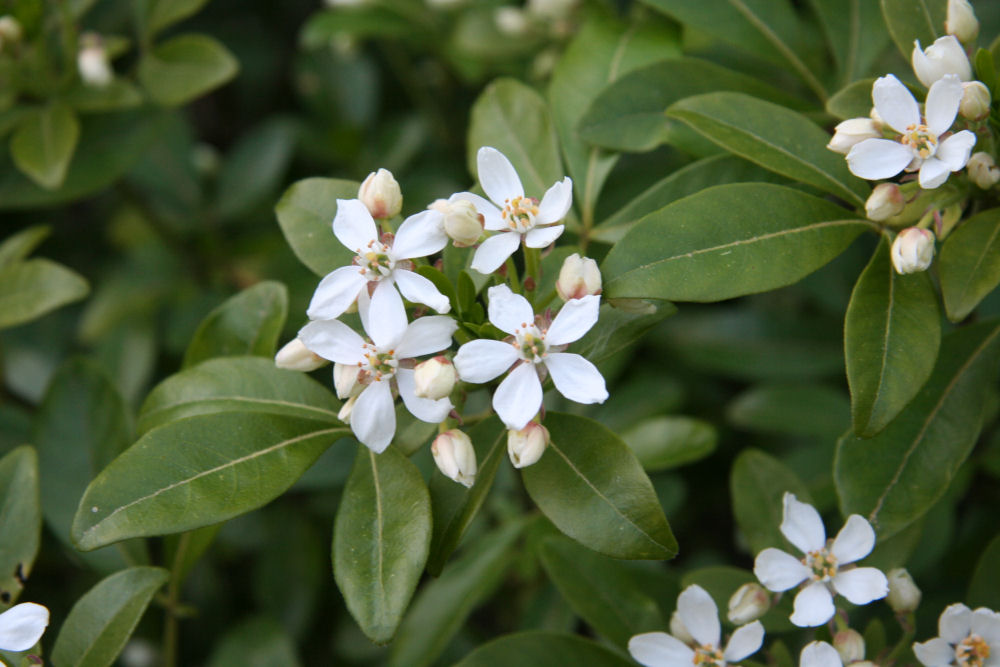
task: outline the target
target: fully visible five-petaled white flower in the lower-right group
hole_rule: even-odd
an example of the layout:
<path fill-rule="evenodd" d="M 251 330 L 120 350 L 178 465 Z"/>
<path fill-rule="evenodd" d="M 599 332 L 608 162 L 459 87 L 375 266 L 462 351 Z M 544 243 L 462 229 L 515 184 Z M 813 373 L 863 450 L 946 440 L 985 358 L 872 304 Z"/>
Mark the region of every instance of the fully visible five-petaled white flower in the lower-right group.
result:
<path fill-rule="evenodd" d="M 834 613 L 834 591 L 859 605 L 884 598 L 889 592 L 885 575 L 876 568 L 844 567 L 867 556 L 875 546 L 875 531 L 860 515 L 847 517 L 836 539 L 827 543 L 826 529 L 816 508 L 785 493 L 781 534 L 805 557 L 798 559 L 781 549 L 764 549 L 757 554 L 753 571 L 765 588 L 775 592 L 808 582 L 795 596 L 791 616 L 795 625 L 813 627 L 829 621 Z"/>

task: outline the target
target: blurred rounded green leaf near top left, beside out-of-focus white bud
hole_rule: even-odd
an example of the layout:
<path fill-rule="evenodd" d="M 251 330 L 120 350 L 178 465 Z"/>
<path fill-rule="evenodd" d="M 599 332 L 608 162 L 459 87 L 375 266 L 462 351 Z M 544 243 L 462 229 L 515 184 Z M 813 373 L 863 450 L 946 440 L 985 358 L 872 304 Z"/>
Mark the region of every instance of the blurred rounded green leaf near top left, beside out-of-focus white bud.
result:
<path fill-rule="evenodd" d="M 187 34 L 158 44 L 139 61 L 139 82 L 153 101 L 180 106 L 226 83 L 239 70 L 236 58 L 208 35 Z"/>

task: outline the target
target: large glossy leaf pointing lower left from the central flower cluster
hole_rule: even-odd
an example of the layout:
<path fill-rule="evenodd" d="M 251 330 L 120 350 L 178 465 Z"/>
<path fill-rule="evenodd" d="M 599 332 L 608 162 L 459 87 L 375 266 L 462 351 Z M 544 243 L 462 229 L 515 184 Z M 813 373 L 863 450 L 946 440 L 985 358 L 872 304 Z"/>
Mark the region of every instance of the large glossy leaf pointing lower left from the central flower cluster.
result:
<path fill-rule="evenodd" d="M 90 483 L 73 520 L 73 542 L 89 551 L 239 516 L 281 495 L 346 433 L 253 412 L 171 422 L 146 433 Z"/>

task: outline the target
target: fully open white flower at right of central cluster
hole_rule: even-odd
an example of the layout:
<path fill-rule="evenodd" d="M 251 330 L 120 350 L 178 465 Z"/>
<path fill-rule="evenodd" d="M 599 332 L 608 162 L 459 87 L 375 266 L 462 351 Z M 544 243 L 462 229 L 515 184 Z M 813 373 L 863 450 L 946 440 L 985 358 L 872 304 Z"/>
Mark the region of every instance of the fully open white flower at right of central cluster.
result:
<path fill-rule="evenodd" d="M 600 371 L 579 354 L 562 352 L 597 322 L 601 297 L 567 301 L 548 326 L 536 324 L 528 300 L 506 285 L 491 287 L 489 300 L 490 322 L 512 338 L 466 343 L 455 355 L 455 368 L 466 382 L 482 383 L 513 366 L 493 394 L 493 409 L 508 429 L 524 428 L 542 407 L 539 372 L 543 369 L 571 401 L 603 403 L 608 398 Z"/>

